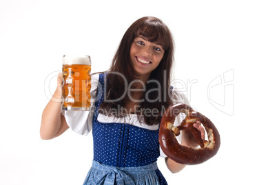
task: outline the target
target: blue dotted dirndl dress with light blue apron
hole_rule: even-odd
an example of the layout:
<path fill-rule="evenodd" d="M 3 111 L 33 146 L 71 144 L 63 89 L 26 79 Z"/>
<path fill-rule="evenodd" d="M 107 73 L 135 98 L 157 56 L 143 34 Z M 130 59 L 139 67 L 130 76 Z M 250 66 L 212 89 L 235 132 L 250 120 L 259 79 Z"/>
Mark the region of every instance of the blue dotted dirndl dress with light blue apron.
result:
<path fill-rule="evenodd" d="M 97 120 L 104 78 L 100 74 L 92 119 L 94 160 L 83 184 L 167 184 L 156 164 L 160 156 L 158 130 Z"/>

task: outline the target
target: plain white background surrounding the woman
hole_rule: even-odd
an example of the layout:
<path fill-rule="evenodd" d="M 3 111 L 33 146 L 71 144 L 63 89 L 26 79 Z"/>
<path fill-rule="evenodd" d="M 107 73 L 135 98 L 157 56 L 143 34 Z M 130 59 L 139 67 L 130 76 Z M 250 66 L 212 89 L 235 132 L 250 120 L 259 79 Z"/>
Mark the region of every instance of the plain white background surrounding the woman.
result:
<path fill-rule="evenodd" d="M 276 184 L 276 10 L 276 1 L 1 0 L 0 184 L 83 183 L 92 135 L 39 136 L 62 56 L 90 55 L 92 72 L 107 70 L 125 30 L 147 15 L 172 31 L 175 78 L 221 135 L 204 164 L 172 174 L 158 159 L 167 182 Z"/>

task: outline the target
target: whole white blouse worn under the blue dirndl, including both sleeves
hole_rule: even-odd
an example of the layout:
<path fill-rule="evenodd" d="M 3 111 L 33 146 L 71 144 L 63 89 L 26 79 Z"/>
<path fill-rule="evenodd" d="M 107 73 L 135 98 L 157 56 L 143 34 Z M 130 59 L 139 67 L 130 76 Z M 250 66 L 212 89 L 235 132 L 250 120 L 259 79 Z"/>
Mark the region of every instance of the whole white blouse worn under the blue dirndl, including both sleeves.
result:
<path fill-rule="evenodd" d="M 95 99 L 96 99 L 96 92 L 97 92 L 97 86 L 99 82 L 99 74 L 92 75 L 92 86 L 90 90 L 90 94 L 92 97 L 92 105 L 94 106 Z M 172 100 L 173 104 L 187 104 L 189 105 L 189 102 L 187 101 L 187 98 L 183 93 L 181 93 L 178 89 L 172 90 Z M 91 110 L 94 110 L 92 107 Z M 74 133 L 78 133 L 80 135 L 88 135 L 90 133 L 90 130 L 92 130 L 92 117 L 93 117 L 93 111 L 72 111 L 72 110 L 61 110 L 61 114 L 65 117 L 66 122 L 68 123 L 68 126 L 71 130 L 74 131 Z M 174 126 L 178 126 L 181 124 L 181 121 L 185 119 L 184 114 L 179 114 L 174 122 Z M 145 123 L 142 123 L 139 121 L 137 115 L 129 114 L 125 117 L 112 117 L 107 116 L 99 113 L 98 119 L 99 122 L 103 123 L 125 123 L 125 124 L 132 124 L 134 126 L 139 126 L 141 128 L 145 128 L 148 130 L 158 130 L 159 125 L 152 125 L 148 126 Z M 182 135 L 180 134 L 178 137 L 176 137 L 178 142 L 181 143 Z M 166 155 L 163 153 L 163 151 L 160 148 L 161 157 L 166 157 Z"/>

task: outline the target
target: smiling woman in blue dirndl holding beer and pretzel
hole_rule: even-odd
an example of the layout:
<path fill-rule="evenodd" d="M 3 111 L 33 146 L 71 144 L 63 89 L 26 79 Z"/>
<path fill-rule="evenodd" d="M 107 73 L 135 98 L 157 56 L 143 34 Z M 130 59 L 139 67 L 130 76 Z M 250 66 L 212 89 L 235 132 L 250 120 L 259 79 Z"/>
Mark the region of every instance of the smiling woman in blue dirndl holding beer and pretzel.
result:
<path fill-rule="evenodd" d="M 61 113 L 54 101 L 46 106 L 42 139 L 57 137 L 69 127 L 84 135 L 92 129 L 94 160 L 84 184 L 167 184 L 156 165 L 160 155 L 172 173 L 185 167 L 166 157 L 158 144 L 163 111 L 171 104 L 188 104 L 170 87 L 173 53 L 167 26 L 143 17 L 125 32 L 110 70 L 92 75 L 93 111 Z M 54 97 L 61 97 L 61 76 Z M 201 123 L 194 126 L 204 136 Z M 180 140 L 196 146 L 192 135 L 183 133 Z"/>

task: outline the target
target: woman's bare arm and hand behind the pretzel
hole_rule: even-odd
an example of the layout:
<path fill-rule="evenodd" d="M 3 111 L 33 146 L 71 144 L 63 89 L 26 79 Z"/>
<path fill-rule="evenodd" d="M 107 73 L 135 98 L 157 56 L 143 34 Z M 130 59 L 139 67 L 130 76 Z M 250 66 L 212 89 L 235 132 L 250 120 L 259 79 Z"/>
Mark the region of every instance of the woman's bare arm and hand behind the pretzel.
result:
<path fill-rule="evenodd" d="M 205 130 L 201 126 L 200 121 L 196 121 L 194 123 L 194 127 L 197 128 L 201 132 L 201 137 L 204 140 L 205 139 Z M 198 143 L 196 139 L 192 136 L 191 133 L 187 130 L 182 130 L 182 141 L 181 145 L 187 146 L 189 148 L 196 148 L 198 146 Z M 165 164 L 167 165 L 167 168 L 172 172 L 172 173 L 178 173 L 179 171 L 183 170 L 185 168 L 185 164 L 179 164 L 177 162 L 174 162 L 174 160 L 170 159 L 170 157 L 165 158 Z"/>

